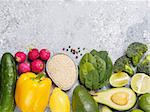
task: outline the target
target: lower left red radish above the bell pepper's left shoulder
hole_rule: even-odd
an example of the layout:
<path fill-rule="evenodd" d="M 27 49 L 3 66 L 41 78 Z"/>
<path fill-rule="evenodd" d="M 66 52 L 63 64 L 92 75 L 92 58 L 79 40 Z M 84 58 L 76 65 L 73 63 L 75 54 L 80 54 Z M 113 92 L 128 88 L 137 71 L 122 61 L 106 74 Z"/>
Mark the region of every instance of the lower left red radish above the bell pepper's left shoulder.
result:
<path fill-rule="evenodd" d="M 30 64 L 28 62 L 20 63 L 18 65 L 19 74 L 30 72 Z"/>

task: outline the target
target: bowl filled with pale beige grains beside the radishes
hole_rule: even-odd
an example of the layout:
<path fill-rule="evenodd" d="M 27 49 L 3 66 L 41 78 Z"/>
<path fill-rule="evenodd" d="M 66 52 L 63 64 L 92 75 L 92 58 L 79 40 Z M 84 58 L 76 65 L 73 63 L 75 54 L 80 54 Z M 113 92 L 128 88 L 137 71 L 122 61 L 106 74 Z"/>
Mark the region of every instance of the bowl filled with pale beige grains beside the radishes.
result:
<path fill-rule="evenodd" d="M 77 66 L 65 54 L 57 54 L 49 59 L 46 70 L 53 82 L 63 90 L 70 89 L 78 77 Z"/>

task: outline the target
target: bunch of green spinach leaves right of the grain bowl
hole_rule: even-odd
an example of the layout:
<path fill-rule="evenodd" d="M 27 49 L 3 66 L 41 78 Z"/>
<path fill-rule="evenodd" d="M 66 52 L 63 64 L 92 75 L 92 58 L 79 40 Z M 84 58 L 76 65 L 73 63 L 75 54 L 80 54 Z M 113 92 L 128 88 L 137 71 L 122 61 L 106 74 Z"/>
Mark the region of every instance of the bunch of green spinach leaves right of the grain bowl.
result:
<path fill-rule="evenodd" d="M 80 82 L 90 90 L 99 89 L 108 84 L 113 64 L 106 51 L 92 50 L 86 53 L 79 64 Z"/>

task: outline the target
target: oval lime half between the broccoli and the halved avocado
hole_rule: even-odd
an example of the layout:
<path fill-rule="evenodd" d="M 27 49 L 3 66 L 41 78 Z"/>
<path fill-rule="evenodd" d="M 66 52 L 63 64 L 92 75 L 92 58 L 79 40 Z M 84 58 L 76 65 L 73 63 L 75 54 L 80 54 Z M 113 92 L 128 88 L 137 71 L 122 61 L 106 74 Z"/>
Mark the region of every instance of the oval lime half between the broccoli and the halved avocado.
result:
<path fill-rule="evenodd" d="M 125 72 L 118 72 L 111 75 L 109 82 L 113 87 L 122 87 L 128 84 L 130 77 Z"/>

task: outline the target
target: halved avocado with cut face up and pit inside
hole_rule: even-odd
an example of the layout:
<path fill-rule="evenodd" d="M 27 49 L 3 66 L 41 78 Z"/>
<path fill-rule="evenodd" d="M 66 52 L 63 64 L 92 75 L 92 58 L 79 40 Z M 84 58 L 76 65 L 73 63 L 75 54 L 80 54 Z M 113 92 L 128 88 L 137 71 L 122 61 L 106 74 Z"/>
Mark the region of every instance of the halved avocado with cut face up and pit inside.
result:
<path fill-rule="evenodd" d="M 129 110 L 136 103 L 136 94 L 130 88 L 112 88 L 96 93 L 96 102 L 107 105 L 115 110 Z"/>

